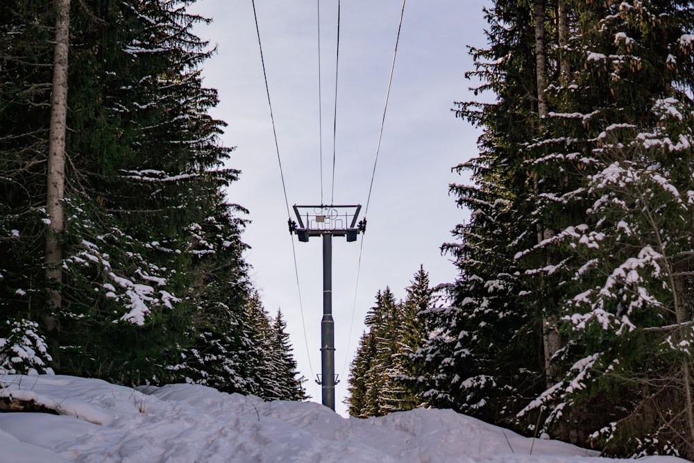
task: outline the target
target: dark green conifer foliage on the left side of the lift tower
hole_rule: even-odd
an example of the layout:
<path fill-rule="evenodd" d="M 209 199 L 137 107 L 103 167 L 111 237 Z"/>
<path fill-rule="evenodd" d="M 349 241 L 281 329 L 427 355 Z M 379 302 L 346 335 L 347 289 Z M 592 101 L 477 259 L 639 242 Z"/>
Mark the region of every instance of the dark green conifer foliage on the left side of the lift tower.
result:
<path fill-rule="evenodd" d="M 246 312 L 237 217 L 246 211 L 225 199 L 239 172 L 226 167 L 225 124 L 208 114 L 217 92 L 203 87 L 199 66 L 212 50 L 192 33 L 207 19 L 190 15 L 190 3 L 71 2 L 67 228 L 53 309 L 43 242 L 55 18 L 51 2 L 2 2 L 0 358 L 17 358 L 6 356 L 12 330 L 33 326 L 32 345 L 45 337 L 49 346 L 36 358 L 52 357 L 58 373 L 257 392 L 266 367 L 257 344 L 268 334 Z M 57 326 L 43 326 L 46 317 Z M 277 358 L 289 368 L 291 353 Z M 2 368 L 40 367 L 20 363 Z M 280 396 L 303 398 L 291 394 Z"/>

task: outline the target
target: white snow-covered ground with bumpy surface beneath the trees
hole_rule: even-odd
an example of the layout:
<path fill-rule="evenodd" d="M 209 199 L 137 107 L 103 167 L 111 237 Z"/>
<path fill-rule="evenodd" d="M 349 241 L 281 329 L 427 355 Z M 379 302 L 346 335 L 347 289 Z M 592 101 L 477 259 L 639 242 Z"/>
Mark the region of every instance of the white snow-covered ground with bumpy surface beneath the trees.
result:
<path fill-rule="evenodd" d="M 578 463 L 595 455 L 448 410 L 344 419 L 316 403 L 263 402 L 196 385 L 143 394 L 71 376 L 0 376 L 0 387 L 0 399 L 61 413 L 0 414 L 0 462 Z"/>

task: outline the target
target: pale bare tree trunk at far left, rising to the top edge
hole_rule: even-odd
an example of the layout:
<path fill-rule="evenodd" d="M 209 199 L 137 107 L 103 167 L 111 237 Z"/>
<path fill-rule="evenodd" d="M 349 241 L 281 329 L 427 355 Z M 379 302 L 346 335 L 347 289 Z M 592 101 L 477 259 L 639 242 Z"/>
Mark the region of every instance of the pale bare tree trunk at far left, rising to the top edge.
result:
<path fill-rule="evenodd" d="M 60 235 L 65 230 L 62 199 L 65 196 L 65 133 L 67 128 L 67 55 L 69 50 L 70 0 L 56 0 L 56 49 L 53 56 L 53 93 L 49 132 L 46 213 L 50 220 L 46 231 L 46 280 L 53 310 L 62 305 L 62 249 Z M 46 317 L 46 328 L 57 329 L 56 318 Z"/>

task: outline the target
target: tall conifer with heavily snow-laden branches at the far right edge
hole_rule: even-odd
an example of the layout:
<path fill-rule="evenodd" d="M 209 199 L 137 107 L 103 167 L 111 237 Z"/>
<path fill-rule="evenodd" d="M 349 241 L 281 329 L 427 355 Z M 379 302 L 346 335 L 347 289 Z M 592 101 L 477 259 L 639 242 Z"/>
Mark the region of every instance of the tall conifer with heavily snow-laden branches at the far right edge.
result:
<path fill-rule="evenodd" d="M 684 436 L 694 429 L 692 408 L 665 418 L 666 403 L 692 401 L 682 347 L 691 318 L 682 302 L 691 249 L 682 201 L 691 187 L 691 6 L 608 2 L 576 6 L 574 17 L 582 31 L 569 47 L 574 85 L 555 92 L 579 112 L 555 119 L 565 131 L 577 120 L 592 135 L 573 155 L 591 202 L 584 221 L 551 240 L 575 256 L 563 264 L 573 273 L 561 306 L 568 343 L 557 384 L 527 410 L 545 410 L 547 429 L 577 428 L 573 439 L 614 453 L 691 457 Z"/>

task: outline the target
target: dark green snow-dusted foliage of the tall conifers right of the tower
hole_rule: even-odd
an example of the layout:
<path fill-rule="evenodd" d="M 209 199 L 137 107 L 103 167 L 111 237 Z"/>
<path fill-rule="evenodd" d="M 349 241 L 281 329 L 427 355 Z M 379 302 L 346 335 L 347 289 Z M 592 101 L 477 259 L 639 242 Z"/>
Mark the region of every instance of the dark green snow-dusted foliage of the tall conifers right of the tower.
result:
<path fill-rule="evenodd" d="M 472 50 L 496 101 L 457 110 L 484 132 L 457 167 L 475 185 L 452 185 L 473 214 L 444 246 L 460 276 L 431 313 L 426 396 L 615 455 L 691 457 L 691 2 L 550 3 L 547 117 L 532 2 L 496 1 Z"/>

